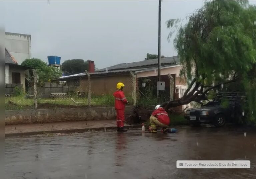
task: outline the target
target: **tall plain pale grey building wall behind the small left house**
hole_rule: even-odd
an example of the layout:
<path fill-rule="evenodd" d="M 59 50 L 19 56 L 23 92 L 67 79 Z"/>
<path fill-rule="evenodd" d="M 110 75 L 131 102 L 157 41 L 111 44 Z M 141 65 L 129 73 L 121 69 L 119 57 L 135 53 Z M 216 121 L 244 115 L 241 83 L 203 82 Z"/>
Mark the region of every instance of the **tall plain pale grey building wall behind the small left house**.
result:
<path fill-rule="evenodd" d="M 6 32 L 5 47 L 20 65 L 25 59 L 31 58 L 31 35 Z"/>

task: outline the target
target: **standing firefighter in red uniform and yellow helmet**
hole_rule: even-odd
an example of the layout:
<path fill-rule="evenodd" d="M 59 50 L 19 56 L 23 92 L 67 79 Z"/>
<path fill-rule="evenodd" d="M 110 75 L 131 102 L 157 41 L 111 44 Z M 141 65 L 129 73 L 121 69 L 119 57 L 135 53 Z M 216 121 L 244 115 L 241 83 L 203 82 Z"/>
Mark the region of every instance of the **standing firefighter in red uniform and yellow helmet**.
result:
<path fill-rule="evenodd" d="M 119 132 L 127 131 L 126 129 L 124 129 L 124 109 L 125 104 L 127 104 L 128 101 L 124 95 L 123 88 L 123 83 L 117 83 L 116 92 L 113 93 L 113 96 L 115 97 L 116 125 L 117 131 Z"/>

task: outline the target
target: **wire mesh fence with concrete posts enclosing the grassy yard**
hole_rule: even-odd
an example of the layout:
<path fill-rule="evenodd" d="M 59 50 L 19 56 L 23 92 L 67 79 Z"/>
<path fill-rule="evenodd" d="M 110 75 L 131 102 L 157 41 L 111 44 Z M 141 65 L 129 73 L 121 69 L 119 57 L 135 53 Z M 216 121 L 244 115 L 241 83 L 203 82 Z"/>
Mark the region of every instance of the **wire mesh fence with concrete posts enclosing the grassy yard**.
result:
<path fill-rule="evenodd" d="M 36 89 L 37 106 L 38 108 L 87 107 L 89 101 L 91 105 L 95 106 L 114 106 L 113 93 L 116 90 L 116 84 L 118 82 L 125 84 L 125 95 L 130 105 L 132 105 L 134 100 L 132 98 L 134 78 L 130 74 L 123 75 L 124 77 L 120 77 L 121 75 L 119 75 L 91 76 L 90 97 L 87 76 L 79 76 L 61 82 L 38 84 Z M 26 93 L 6 96 L 6 110 L 35 108 L 34 82 L 29 80 L 27 84 Z"/>

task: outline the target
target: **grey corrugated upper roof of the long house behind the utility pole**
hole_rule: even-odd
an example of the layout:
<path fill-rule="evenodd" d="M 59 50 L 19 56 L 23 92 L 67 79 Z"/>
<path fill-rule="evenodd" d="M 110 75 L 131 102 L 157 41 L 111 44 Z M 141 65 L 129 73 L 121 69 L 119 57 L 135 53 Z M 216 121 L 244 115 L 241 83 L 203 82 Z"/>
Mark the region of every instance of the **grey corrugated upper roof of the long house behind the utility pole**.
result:
<path fill-rule="evenodd" d="M 177 56 L 161 58 L 161 65 L 179 64 L 179 63 L 180 63 L 180 60 Z M 143 60 L 143 61 L 132 62 L 132 63 L 120 63 L 114 66 L 97 70 L 97 72 L 120 70 L 120 69 L 132 69 L 132 68 L 139 68 L 139 67 L 146 68 L 146 67 L 156 66 L 157 64 L 158 64 L 158 61 L 156 58 L 156 59 Z"/>

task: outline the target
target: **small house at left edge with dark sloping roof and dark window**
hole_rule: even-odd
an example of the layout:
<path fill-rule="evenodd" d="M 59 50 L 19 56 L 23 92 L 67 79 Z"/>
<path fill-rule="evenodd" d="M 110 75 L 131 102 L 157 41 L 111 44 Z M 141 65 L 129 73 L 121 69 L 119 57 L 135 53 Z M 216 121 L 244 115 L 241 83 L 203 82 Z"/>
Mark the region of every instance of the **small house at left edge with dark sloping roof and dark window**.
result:
<path fill-rule="evenodd" d="M 21 84 L 25 92 L 25 71 L 28 69 L 31 68 L 18 65 L 16 59 L 5 49 L 5 84 Z"/>

